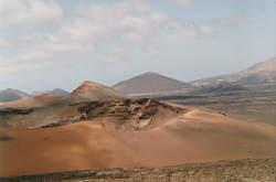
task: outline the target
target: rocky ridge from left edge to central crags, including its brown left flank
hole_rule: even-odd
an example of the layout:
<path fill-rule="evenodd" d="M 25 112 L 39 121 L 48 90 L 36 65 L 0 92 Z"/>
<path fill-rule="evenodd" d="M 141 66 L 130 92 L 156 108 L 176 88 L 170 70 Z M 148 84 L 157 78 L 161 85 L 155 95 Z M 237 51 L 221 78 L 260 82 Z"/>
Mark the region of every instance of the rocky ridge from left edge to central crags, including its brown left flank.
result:
<path fill-rule="evenodd" d="M 0 125 L 12 128 L 52 128 L 88 120 L 109 129 L 146 130 L 169 121 L 182 111 L 182 108 L 148 98 L 126 98 L 41 108 L 3 108 L 0 109 Z"/>

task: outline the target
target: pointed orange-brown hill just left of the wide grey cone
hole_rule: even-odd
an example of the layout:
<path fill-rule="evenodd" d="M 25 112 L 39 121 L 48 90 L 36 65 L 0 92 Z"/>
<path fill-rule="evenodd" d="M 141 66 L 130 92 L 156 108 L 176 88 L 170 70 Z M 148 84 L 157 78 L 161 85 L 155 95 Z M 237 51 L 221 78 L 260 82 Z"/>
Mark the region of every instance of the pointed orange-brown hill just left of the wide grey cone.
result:
<path fill-rule="evenodd" d="M 73 90 L 71 96 L 88 100 L 108 100 L 126 97 L 124 94 L 120 94 L 113 88 L 89 81 L 84 82 L 81 86 Z"/>

